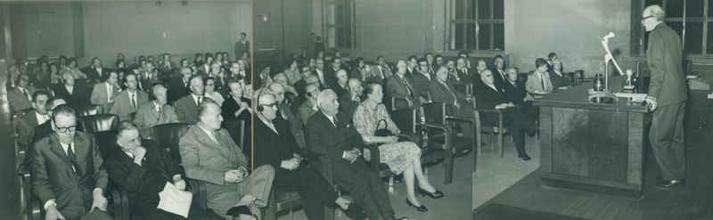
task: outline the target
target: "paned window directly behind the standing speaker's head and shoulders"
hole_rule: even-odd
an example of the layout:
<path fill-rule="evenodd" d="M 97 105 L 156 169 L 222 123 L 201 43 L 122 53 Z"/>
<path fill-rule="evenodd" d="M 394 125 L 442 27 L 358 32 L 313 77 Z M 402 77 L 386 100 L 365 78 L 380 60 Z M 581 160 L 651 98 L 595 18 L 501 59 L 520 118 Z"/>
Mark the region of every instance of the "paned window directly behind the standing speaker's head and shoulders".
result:
<path fill-rule="evenodd" d="M 644 0 L 643 8 L 659 4 L 666 12 L 664 22 L 676 30 L 684 45 L 684 54 L 713 54 L 713 0 Z M 640 14 L 641 12 L 639 12 Z M 643 26 L 642 26 L 643 31 Z M 643 49 L 649 36 L 644 34 Z M 644 50 L 642 50 L 644 51 Z"/>

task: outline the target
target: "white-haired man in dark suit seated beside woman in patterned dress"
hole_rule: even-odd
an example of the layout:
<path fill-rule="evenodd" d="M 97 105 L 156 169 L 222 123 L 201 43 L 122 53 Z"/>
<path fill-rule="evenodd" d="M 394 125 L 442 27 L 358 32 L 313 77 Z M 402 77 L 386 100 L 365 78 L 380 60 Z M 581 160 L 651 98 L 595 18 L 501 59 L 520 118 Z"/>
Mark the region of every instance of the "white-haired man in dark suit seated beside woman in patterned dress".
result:
<path fill-rule="evenodd" d="M 337 94 L 324 90 L 317 106 L 319 111 L 307 121 L 307 146 L 331 159 L 334 182 L 351 192 L 369 219 L 396 219 L 379 174 L 362 158 L 361 135 L 348 118 L 337 114 Z"/>

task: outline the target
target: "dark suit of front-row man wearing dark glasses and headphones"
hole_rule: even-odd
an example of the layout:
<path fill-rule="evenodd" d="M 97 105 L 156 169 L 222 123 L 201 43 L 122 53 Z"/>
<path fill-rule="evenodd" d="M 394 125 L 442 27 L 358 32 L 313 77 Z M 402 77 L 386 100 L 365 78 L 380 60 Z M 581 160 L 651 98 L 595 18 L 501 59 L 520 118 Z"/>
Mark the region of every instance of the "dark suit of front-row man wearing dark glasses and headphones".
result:
<path fill-rule="evenodd" d="M 275 167 L 275 190 L 298 191 L 308 219 L 324 219 L 324 205 L 332 205 L 337 193 L 315 169 L 299 166 L 288 170 L 280 167 L 282 160 L 292 159 L 294 153 L 301 154 L 288 126 L 282 118 L 273 120 L 275 130 L 256 118 L 254 126 L 253 159 L 256 166 Z"/>

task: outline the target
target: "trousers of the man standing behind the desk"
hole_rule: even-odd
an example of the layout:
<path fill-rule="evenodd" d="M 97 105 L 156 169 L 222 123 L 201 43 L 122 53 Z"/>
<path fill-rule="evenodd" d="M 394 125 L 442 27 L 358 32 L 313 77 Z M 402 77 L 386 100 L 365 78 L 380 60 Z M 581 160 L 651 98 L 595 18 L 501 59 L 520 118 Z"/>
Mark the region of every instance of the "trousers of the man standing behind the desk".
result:
<path fill-rule="evenodd" d="M 685 102 L 662 105 L 653 111 L 649 141 L 664 180 L 685 177 Z"/>

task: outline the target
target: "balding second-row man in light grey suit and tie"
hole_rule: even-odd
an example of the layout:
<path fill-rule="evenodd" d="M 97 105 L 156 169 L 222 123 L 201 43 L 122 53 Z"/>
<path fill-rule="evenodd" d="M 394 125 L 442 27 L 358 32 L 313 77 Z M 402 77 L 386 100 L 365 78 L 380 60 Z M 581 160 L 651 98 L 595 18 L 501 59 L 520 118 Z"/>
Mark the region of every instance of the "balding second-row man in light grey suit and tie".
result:
<path fill-rule="evenodd" d="M 139 128 L 143 139 L 151 139 L 151 128 L 156 125 L 177 123 L 178 116 L 172 106 L 166 104 L 166 87 L 157 84 L 152 87 L 152 102 L 146 102 L 136 110 L 134 124 Z"/>

